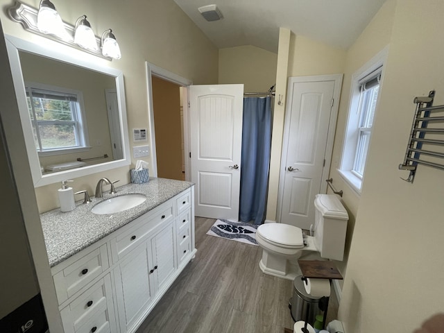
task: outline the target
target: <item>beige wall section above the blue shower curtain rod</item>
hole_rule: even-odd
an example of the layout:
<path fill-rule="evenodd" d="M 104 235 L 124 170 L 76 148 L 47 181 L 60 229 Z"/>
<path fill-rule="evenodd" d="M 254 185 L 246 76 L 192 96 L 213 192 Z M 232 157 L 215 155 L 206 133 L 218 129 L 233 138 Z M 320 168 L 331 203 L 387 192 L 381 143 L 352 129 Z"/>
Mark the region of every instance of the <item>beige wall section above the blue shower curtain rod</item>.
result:
<path fill-rule="evenodd" d="M 246 45 L 219 50 L 219 84 L 244 84 L 244 92 L 266 92 L 276 83 L 276 53 Z"/>

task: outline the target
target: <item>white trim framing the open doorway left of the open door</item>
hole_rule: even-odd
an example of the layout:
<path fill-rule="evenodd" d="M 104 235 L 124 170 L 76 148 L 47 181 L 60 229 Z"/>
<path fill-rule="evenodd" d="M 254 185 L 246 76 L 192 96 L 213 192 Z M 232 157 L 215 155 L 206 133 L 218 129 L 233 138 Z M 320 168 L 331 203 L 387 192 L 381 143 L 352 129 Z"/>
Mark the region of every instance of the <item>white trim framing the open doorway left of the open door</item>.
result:
<path fill-rule="evenodd" d="M 183 87 L 182 91 L 182 103 L 183 103 L 183 142 L 184 142 L 184 155 L 185 155 L 185 180 L 190 179 L 189 175 L 189 158 L 187 158 L 189 152 L 189 109 L 188 109 L 188 92 L 187 87 L 193 84 L 193 81 L 188 78 L 183 78 L 177 74 L 167 71 L 162 67 L 158 67 L 151 62 L 145 62 L 146 69 L 146 92 L 148 97 L 148 127 L 150 131 L 150 154 L 151 154 L 151 176 L 157 177 L 157 153 L 155 148 L 155 132 L 154 132 L 154 107 L 153 107 L 153 81 L 151 78 L 156 76 L 162 78 L 162 80 L 175 83 Z"/>

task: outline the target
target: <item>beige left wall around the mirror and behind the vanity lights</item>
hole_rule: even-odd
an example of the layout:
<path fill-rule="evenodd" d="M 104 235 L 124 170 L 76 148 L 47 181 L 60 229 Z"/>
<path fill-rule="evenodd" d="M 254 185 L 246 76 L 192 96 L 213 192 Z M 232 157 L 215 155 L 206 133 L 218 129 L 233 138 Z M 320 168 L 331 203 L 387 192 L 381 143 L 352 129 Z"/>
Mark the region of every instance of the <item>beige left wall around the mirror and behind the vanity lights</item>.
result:
<path fill-rule="evenodd" d="M 38 8 L 40 1 L 30 0 L 26 3 Z M 10 4 L 9 0 L 0 0 L 2 8 Z M 80 15 L 86 14 L 96 35 L 101 35 L 110 27 L 113 29 L 122 51 L 122 58 L 105 62 L 105 65 L 123 71 L 129 130 L 149 127 L 146 60 L 189 78 L 194 84 L 217 83 L 218 50 L 172 0 L 137 3 L 116 0 L 58 1 L 56 8 L 62 19 L 71 24 L 74 24 Z M 4 11 L 0 12 L 0 20 L 6 34 L 44 43 L 43 37 L 27 33 L 20 24 L 12 22 Z M 148 144 L 151 145 L 151 142 Z M 130 142 L 130 146 L 133 145 L 133 142 Z M 151 162 L 151 159 L 148 157 L 146 161 Z M 135 160 L 133 166 L 134 163 Z M 93 194 L 97 180 L 104 176 L 112 180 L 120 179 L 119 185 L 128 183 L 129 169 L 130 167 L 123 167 L 77 178 L 71 184 L 75 191 L 87 189 L 89 194 Z M 58 207 L 57 189 L 58 184 L 36 189 L 40 212 Z"/>

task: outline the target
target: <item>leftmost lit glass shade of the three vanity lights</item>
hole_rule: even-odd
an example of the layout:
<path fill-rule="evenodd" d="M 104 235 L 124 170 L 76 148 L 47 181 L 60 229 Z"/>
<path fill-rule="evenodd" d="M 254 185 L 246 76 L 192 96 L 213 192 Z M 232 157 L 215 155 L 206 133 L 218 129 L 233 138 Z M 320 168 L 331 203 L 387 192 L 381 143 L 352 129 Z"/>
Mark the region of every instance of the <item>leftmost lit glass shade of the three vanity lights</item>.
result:
<path fill-rule="evenodd" d="M 58 15 L 56 7 L 49 0 L 40 1 L 40 8 L 37 13 L 37 28 L 42 33 L 51 33 L 63 40 L 69 39 L 62 18 Z"/>

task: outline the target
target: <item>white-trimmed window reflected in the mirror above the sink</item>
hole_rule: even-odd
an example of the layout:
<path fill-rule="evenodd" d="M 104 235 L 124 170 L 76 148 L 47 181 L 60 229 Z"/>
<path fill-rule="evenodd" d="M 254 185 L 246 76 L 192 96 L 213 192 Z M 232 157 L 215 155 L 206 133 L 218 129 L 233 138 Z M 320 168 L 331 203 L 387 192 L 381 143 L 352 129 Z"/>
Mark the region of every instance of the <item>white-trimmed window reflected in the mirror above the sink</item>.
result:
<path fill-rule="evenodd" d="M 82 92 L 35 84 L 26 86 L 26 97 L 39 155 L 87 147 Z"/>

